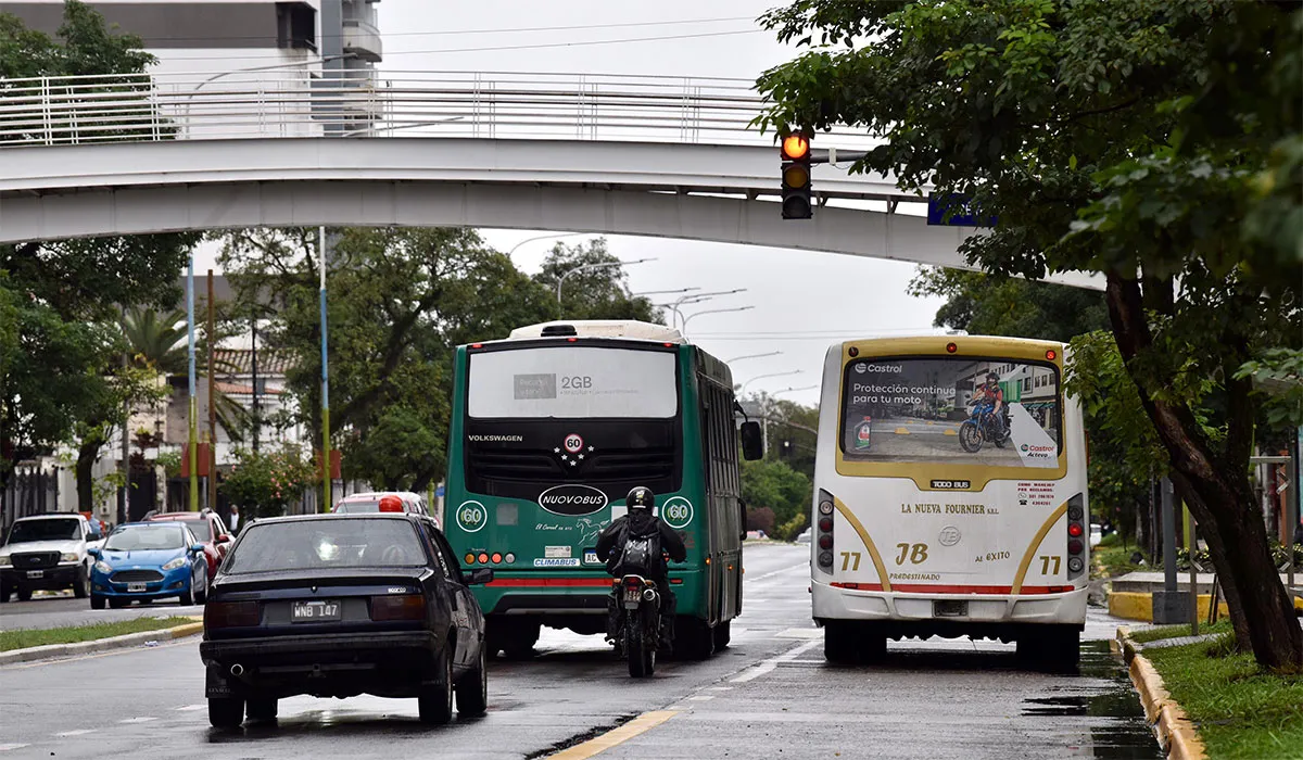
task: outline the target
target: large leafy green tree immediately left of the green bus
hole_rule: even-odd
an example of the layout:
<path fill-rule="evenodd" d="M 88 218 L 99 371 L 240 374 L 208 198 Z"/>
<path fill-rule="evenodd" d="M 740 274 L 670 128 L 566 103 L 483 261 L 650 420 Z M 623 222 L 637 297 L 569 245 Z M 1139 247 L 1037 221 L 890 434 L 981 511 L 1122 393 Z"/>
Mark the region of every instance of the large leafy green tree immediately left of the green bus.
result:
<path fill-rule="evenodd" d="M 345 477 L 423 490 L 444 469 L 452 349 L 554 314 L 549 293 L 473 229 L 332 232 L 328 343 L 332 439 Z M 278 305 L 265 345 L 292 357 L 296 418 L 321 441 L 317 231 L 227 239 L 236 312 Z"/>

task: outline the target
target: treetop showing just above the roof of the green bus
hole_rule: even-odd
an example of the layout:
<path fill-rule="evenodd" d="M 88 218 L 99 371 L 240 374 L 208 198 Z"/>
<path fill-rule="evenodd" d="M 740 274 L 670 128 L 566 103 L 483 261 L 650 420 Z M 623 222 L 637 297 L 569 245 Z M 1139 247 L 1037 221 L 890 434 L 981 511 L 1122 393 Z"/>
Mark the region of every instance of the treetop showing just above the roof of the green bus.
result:
<path fill-rule="evenodd" d="M 562 302 L 556 308 L 560 318 L 663 323 L 661 310 L 652 301 L 629 293 L 624 267 L 616 256 L 607 252 L 605 237 L 590 240 L 586 245 L 558 242 L 543 261 L 542 270 L 534 275 L 534 282 L 546 287 L 555 299 L 556 283 L 563 276 Z"/>

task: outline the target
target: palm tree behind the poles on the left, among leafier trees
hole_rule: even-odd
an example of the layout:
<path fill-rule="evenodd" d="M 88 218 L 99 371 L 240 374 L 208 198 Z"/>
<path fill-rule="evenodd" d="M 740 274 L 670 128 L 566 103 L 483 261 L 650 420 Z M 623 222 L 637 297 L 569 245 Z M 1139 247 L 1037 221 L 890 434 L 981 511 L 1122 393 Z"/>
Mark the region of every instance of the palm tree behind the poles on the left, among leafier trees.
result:
<path fill-rule="evenodd" d="M 132 308 L 122 317 L 122 335 L 137 366 L 154 369 L 168 378 L 186 375 L 190 369 L 189 335 L 185 312 L 160 314 L 154 309 Z M 207 374 L 195 368 L 199 377 Z M 222 368 L 214 368 L 215 370 Z M 225 369 L 233 369 L 227 366 Z M 244 441 L 249 411 L 225 392 L 214 388 L 212 405 L 218 424 L 233 441 Z"/>

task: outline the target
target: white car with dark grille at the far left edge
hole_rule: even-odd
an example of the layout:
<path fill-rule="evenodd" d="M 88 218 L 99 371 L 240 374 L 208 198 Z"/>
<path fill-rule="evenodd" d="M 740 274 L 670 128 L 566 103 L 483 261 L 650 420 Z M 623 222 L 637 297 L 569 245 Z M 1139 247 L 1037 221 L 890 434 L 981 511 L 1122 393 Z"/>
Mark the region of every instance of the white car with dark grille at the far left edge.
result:
<path fill-rule="evenodd" d="M 77 598 L 90 593 L 94 558 L 90 549 L 104 537 L 77 512 L 47 512 L 18 518 L 0 546 L 0 602 L 17 592 L 20 601 L 34 591 L 73 589 Z"/>

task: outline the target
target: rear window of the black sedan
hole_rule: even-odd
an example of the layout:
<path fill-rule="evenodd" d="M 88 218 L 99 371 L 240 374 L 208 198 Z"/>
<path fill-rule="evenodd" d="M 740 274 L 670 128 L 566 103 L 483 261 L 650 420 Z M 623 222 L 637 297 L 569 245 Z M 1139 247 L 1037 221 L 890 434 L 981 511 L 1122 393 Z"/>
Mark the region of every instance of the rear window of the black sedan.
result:
<path fill-rule="evenodd" d="M 225 572 L 418 567 L 426 562 L 416 528 L 407 520 L 291 520 L 250 525 L 231 553 Z"/>

